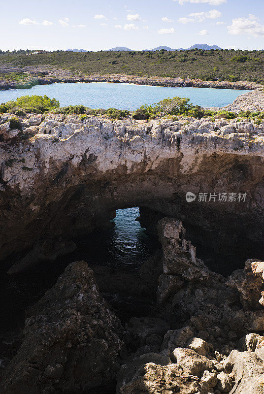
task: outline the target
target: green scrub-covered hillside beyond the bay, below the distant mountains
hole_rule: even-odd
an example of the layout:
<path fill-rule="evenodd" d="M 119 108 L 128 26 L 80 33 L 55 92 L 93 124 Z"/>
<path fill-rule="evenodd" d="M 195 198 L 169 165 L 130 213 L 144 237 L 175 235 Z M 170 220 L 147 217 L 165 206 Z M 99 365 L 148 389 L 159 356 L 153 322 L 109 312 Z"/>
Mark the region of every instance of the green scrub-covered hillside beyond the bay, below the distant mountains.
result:
<path fill-rule="evenodd" d="M 36 55 L 2 52 L 0 64 L 4 63 L 14 66 L 50 65 L 82 75 L 119 73 L 264 83 L 264 50 L 55 51 Z"/>

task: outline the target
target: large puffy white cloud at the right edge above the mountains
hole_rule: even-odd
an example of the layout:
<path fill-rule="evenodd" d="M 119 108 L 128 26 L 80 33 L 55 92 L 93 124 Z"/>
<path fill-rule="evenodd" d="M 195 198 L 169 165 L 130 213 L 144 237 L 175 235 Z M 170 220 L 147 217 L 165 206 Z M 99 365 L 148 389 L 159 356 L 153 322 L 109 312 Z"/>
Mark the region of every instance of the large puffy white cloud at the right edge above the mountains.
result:
<path fill-rule="evenodd" d="M 233 35 L 248 34 L 253 37 L 264 36 L 264 25 L 258 22 L 259 18 L 249 14 L 248 18 L 232 19 L 231 26 L 228 26 L 228 33 Z"/>

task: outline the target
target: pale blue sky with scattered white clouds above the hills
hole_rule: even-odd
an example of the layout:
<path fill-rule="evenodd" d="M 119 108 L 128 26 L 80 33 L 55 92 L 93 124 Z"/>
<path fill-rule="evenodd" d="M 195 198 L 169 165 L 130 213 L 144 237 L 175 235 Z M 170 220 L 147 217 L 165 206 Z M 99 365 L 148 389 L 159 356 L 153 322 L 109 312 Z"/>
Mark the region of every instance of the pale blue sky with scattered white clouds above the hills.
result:
<path fill-rule="evenodd" d="M 1 50 L 264 49 L 263 0 L 0 0 L 0 10 Z"/>

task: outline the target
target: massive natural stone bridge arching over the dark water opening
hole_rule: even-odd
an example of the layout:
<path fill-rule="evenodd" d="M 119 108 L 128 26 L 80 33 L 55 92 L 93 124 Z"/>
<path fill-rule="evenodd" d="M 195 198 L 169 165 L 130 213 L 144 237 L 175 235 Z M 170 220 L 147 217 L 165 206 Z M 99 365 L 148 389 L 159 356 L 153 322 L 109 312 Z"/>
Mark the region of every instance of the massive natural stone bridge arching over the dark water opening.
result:
<path fill-rule="evenodd" d="M 264 125 L 62 114 L 22 121 L 23 132 L 10 130 L 8 115 L 0 121 L 0 259 L 107 226 L 131 206 L 182 220 L 195 244 L 226 253 L 262 247 Z M 188 203 L 188 191 L 247 196 Z M 151 227 L 155 215 L 143 208 Z"/>

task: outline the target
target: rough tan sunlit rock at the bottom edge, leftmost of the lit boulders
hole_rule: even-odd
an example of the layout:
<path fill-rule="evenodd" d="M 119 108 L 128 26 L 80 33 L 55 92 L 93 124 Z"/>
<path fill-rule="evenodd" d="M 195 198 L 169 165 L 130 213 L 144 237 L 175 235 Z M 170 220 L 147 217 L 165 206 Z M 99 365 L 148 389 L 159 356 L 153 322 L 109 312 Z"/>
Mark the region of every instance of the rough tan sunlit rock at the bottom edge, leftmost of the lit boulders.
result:
<path fill-rule="evenodd" d="M 208 394 L 208 383 L 189 375 L 177 364 L 157 365 L 149 362 L 142 365 L 130 382 L 124 382 L 121 394 Z"/>

